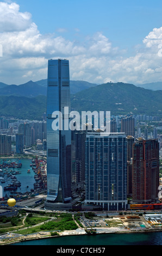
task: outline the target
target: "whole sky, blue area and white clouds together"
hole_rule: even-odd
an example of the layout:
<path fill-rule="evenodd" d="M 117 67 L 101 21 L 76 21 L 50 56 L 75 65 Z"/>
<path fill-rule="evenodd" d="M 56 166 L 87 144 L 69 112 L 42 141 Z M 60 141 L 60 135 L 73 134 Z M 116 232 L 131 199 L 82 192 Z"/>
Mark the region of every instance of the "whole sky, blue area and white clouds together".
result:
<path fill-rule="evenodd" d="M 45 79 L 48 58 L 70 59 L 71 80 L 162 81 L 161 11 L 161 0 L 0 0 L 0 82 Z"/>

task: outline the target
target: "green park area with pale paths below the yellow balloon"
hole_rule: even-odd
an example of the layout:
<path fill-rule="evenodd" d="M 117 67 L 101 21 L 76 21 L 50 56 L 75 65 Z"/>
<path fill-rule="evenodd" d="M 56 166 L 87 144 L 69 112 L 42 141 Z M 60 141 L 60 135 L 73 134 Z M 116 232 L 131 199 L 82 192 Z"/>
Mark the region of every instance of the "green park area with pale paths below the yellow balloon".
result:
<path fill-rule="evenodd" d="M 52 214 L 43 216 L 39 214 L 21 214 L 14 218 L 1 217 L 0 234 L 10 231 L 28 235 L 40 231 L 64 231 L 75 230 L 77 224 L 74 222 L 71 214 Z"/>

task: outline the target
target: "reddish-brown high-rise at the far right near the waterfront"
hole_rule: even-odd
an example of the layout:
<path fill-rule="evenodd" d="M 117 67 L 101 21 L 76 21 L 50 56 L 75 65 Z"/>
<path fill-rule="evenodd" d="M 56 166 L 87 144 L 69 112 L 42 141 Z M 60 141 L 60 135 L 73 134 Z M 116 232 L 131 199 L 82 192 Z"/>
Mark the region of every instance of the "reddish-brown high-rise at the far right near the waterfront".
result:
<path fill-rule="evenodd" d="M 151 203 L 158 199 L 159 142 L 157 139 L 136 139 L 133 145 L 134 203 Z"/>

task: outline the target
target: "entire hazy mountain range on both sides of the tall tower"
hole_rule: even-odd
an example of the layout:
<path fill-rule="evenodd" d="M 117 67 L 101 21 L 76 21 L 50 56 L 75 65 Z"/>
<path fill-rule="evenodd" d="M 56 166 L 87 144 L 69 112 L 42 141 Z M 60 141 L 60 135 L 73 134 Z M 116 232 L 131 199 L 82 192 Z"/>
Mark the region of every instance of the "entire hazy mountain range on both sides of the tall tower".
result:
<path fill-rule="evenodd" d="M 46 95 L 47 80 L 20 86 L 0 83 L 0 116 L 41 120 L 46 112 Z M 141 85 L 71 81 L 71 109 L 79 112 L 158 115 L 162 113 L 161 99 L 162 90 L 145 89 Z"/>

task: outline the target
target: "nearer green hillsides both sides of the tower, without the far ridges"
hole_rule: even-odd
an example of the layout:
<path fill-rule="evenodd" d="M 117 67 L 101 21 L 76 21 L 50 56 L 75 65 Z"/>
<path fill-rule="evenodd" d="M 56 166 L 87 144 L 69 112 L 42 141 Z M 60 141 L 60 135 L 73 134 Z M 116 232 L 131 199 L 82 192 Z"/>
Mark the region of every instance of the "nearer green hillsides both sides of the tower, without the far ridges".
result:
<path fill-rule="evenodd" d="M 111 115 L 162 112 L 162 90 L 152 91 L 133 84 L 107 83 L 71 95 L 71 110 L 110 111 Z M 0 116 L 19 119 L 42 119 L 46 96 L 0 96 Z"/>

